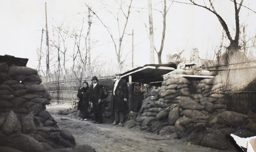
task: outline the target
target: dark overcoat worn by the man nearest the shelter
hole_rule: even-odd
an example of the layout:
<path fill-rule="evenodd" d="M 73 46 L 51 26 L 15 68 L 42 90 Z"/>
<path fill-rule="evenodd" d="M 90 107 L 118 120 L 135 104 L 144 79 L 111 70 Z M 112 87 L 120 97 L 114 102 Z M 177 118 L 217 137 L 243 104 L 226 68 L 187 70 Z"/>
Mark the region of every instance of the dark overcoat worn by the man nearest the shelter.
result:
<path fill-rule="evenodd" d="M 116 83 L 116 80 L 114 81 L 114 85 Z M 114 90 L 114 87 L 112 89 L 112 92 Z M 112 112 L 119 111 L 119 112 L 125 112 L 127 110 L 127 102 L 124 101 L 124 98 L 127 99 L 128 102 L 128 86 L 125 80 L 120 79 L 115 90 L 115 95 L 112 93 L 111 97 L 111 109 Z"/>

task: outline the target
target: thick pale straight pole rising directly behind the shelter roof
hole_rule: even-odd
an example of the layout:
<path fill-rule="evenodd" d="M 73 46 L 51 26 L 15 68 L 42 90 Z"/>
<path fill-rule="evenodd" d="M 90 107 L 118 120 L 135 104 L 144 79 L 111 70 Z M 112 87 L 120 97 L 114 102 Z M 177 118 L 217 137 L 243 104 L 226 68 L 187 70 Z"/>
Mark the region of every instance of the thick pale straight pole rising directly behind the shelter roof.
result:
<path fill-rule="evenodd" d="M 154 32 L 151 0 L 148 0 L 148 22 L 149 22 L 149 43 L 150 43 L 150 64 L 154 64 Z"/>

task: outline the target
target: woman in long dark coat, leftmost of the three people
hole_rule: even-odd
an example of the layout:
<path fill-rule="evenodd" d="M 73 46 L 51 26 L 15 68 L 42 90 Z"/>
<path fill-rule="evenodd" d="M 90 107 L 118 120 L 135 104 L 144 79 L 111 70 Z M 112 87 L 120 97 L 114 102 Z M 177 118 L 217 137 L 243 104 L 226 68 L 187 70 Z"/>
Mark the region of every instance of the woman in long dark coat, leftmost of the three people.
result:
<path fill-rule="evenodd" d="M 81 117 L 81 120 L 87 120 L 89 119 L 89 86 L 86 81 L 84 81 L 83 86 L 78 89 L 77 97 L 79 98 L 77 106 L 77 109 L 79 110 L 79 117 Z"/>

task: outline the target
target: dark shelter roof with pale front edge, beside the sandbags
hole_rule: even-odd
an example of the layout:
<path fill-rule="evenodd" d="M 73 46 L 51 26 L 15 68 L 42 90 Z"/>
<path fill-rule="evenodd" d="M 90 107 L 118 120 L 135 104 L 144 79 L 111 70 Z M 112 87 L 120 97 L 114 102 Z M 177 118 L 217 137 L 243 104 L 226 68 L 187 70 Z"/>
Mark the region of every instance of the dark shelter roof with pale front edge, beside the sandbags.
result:
<path fill-rule="evenodd" d="M 168 64 L 146 64 L 121 75 L 126 82 L 129 82 L 129 75 L 131 75 L 132 82 L 139 82 L 140 80 L 147 83 L 163 81 L 163 75 L 176 69 L 175 63 Z"/>

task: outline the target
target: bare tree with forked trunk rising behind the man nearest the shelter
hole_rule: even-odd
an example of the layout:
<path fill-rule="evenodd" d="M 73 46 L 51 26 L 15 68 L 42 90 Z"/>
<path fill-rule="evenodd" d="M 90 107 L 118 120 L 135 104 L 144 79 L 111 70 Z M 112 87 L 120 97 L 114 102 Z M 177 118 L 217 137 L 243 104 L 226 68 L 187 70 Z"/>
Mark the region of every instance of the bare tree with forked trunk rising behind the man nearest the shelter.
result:
<path fill-rule="evenodd" d="M 122 41 L 123 41 L 123 37 L 124 37 L 124 34 L 125 34 L 125 29 L 127 27 L 127 23 L 128 23 L 128 19 L 129 19 L 129 15 L 131 13 L 131 4 L 132 4 L 132 0 L 130 0 L 130 3 L 128 5 L 128 10 L 127 12 L 125 13 L 124 12 L 124 9 L 123 7 L 125 7 L 125 3 L 124 2 L 120 2 L 119 3 L 119 10 L 118 10 L 118 13 L 117 14 L 113 14 L 111 11 L 108 11 L 110 14 L 113 15 L 113 17 L 116 19 L 116 22 L 117 22 L 117 25 L 118 25 L 118 32 L 119 32 L 119 39 L 118 39 L 118 43 L 116 42 L 112 32 L 111 32 L 111 28 L 106 26 L 106 24 L 102 21 L 102 19 L 96 14 L 95 11 L 93 11 L 87 4 L 85 4 L 89 9 L 90 11 L 99 19 L 99 21 L 102 23 L 102 25 L 105 27 L 105 29 L 107 29 L 108 31 L 108 34 L 110 35 L 111 37 L 111 40 L 113 42 L 113 45 L 114 45 L 114 49 L 115 49 L 115 52 L 116 52 L 116 58 L 117 58 L 117 62 L 118 62 L 118 66 L 119 66 L 119 70 L 120 72 L 122 72 L 122 68 L 123 68 L 123 64 L 126 60 L 126 57 L 124 57 L 124 59 L 122 59 Z M 122 13 L 122 15 L 125 17 L 125 23 L 123 24 L 123 29 L 122 29 L 122 32 L 121 32 L 121 29 L 120 29 L 120 22 L 119 22 L 119 14 Z M 127 55 L 126 55 L 127 56 Z"/>

